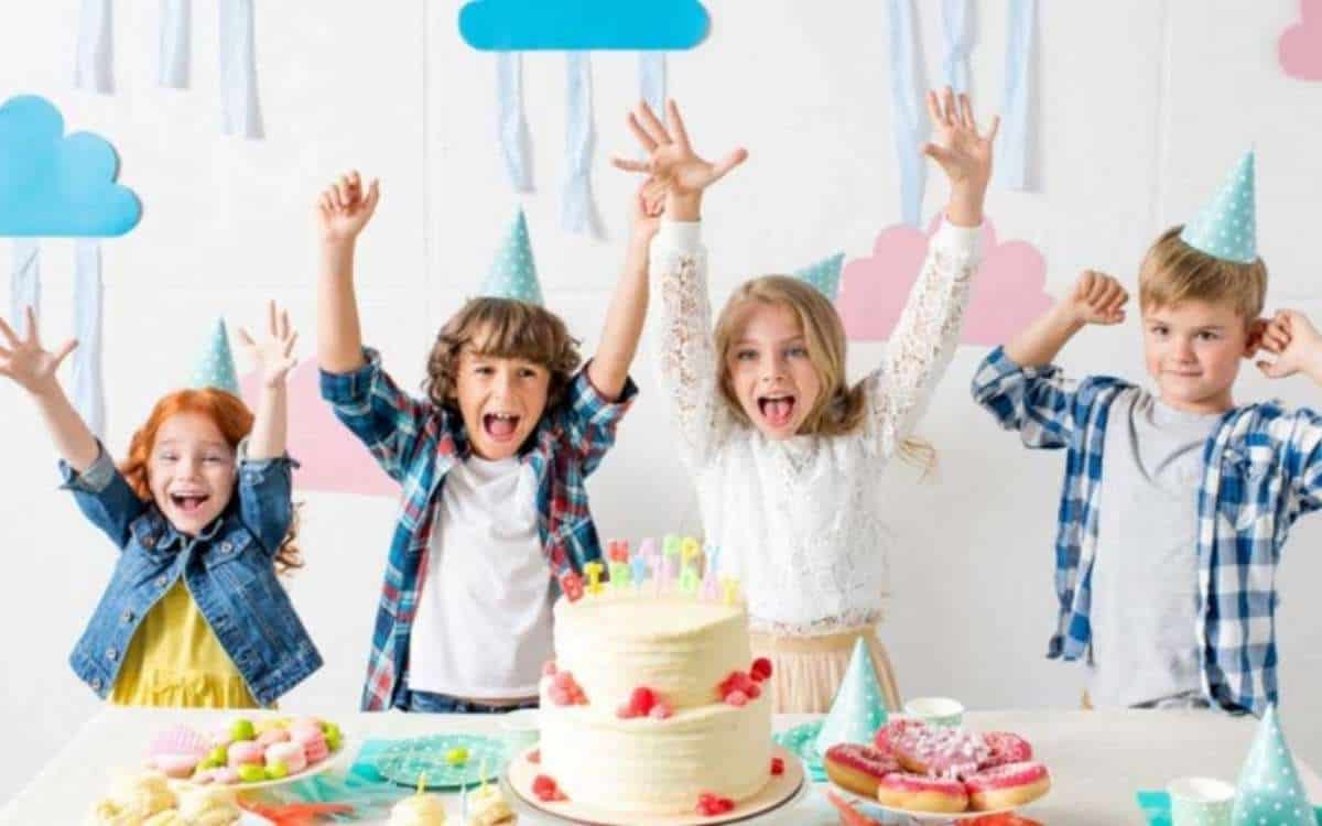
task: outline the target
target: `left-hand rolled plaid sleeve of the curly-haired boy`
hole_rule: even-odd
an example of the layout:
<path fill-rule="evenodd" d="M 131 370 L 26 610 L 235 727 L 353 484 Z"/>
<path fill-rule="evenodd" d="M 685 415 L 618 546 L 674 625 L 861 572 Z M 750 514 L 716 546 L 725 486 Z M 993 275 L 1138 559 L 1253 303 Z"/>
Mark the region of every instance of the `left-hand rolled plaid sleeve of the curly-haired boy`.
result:
<path fill-rule="evenodd" d="M 364 348 L 366 365 L 353 373 L 321 371 L 321 398 L 336 418 L 357 436 L 377 464 L 397 482 L 403 482 L 427 419 L 435 415 L 428 402 L 399 390 L 381 367 L 381 354 Z"/>

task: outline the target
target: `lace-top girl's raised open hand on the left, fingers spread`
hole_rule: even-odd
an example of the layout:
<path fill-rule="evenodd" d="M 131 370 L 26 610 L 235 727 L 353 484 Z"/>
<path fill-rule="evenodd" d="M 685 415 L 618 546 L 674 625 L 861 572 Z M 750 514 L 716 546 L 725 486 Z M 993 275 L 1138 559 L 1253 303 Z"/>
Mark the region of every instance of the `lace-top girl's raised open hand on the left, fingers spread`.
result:
<path fill-rule="evenodd" d="M 748 152 L 734 149 L 720 161 L 701 157 L 689 140 L 689 132 L 674 100 L 666 103 L 666 122 L 662 124 L 646 103 L 639 103 L 637 112 L 629 112 L 629 130 L 648 153 L 646 160 L 612 159 L 627 172 L 650 176 L 668 196 L 668 204 L 697 204 L 702 192 L 723 178 L 731 169 L 744 163 Z"/>

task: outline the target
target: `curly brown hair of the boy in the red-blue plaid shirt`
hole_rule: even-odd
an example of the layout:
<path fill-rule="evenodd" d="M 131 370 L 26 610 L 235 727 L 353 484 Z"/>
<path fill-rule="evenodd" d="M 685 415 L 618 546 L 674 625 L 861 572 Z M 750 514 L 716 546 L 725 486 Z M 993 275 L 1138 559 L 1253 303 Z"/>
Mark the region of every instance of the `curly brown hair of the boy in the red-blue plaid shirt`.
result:
<path fill-rule="evenodd" d="M 561 402 L 583 361 L 578 345 L 564 321 L 549 309 L 512 299 L 469 299 L 436 334 L 423 390 L 432 404 L 457 411 L 455 375 L 467 346 L 479 356 L 522 358 L 546 367 L 551 374 L 546 391 L 550 408 Z"/>

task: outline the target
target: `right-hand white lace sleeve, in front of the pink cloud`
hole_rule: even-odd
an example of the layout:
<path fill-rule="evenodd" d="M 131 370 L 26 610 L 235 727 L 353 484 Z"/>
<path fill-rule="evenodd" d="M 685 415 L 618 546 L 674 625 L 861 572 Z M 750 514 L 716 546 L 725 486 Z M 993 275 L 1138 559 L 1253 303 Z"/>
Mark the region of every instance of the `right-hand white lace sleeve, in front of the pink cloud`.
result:
<path fill-rule="evenodd" d="M 883 457 L 895 455 L 912 432 L 954 357 L 978 266 L 980 231 L 941 225 L 891 333 L 886 359 L 865 382 L 866 436 Z"/>

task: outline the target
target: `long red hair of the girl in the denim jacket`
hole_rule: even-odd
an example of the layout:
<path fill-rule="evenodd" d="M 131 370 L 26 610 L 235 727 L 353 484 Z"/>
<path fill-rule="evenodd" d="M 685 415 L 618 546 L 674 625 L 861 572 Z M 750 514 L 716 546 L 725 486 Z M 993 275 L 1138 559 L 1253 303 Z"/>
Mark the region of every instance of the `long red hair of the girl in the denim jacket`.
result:
<path fill-rule="evenodd" d="M 128 443 L 128 457 L 119 472 L 124 481 L 132 488 L 137 498 L 144 502 L 152 500 L 151 484 L 147 478 L 148 460 L 156 447 L 156 435 L 161 424 L 176 414 L 190 412 L 206 416 L 215 423 L 217 430 L 225 436 L 230 449 L 237 449 L 239 441 L 253 431 L 253 414 L 237 395 L 213 387 L 200 390 L 178 390 L 163 396 L 152 408 L 147 423 L 137 428 Z M 235 478 L 238 476 L 235 474 Z M 290 521 L 290 531 L 280 542 L 275 552 L 275 567 L 279 572 L 303 567 L 303 554 L 295 543 L 297 538 L 299 511 L 293 509 L 293 518 Z"/>

